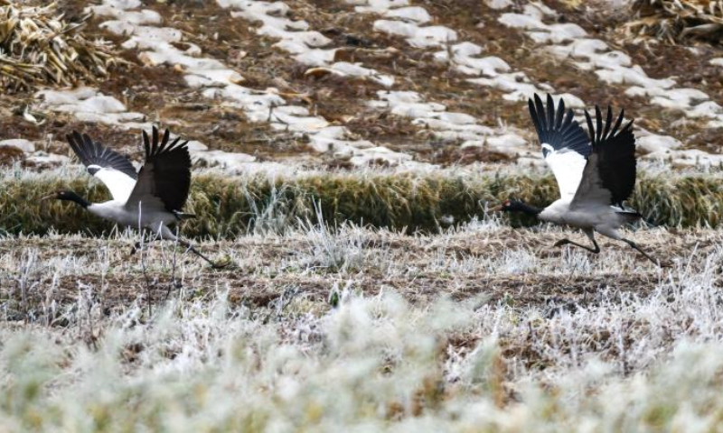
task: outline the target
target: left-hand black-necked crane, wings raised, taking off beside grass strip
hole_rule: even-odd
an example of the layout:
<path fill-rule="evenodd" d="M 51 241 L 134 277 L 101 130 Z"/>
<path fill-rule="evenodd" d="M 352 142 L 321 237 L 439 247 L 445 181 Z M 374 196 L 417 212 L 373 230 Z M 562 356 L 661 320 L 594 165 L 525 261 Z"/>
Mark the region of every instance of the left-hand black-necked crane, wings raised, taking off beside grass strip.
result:
<path fill-rule="evenodd" d="M 159 137 L 155 126 L 151 137 L 143 131 L 146 160 L 136 172 L 127 157 L 94 142 L 88 134 L 81 135 L 74 131 L 67 138 L 70 148 L 78 155 L 90 175 L 106 185 L 113 199 L 103 203 L 90 203 L 68 189 L 57 191 L 43 199 L 72 201 L 91 214 L 118 225 L 141 228 L 142 231 L 150 230 L 161 239 L 177 241 L 214 268 L 223 266 L 213 263 L 192 244 L 174 235 L 169 228 L 183 219 L 194 217 L 182 212 L 191 188 L 191 156 L 186 146 L 188 142 L 180 143 L 180 138 L 170 142 L 170 132 L 167 129 L 163 137 Z M 136 244 L 133 251 L 139 246 L 140 244 Z"/>

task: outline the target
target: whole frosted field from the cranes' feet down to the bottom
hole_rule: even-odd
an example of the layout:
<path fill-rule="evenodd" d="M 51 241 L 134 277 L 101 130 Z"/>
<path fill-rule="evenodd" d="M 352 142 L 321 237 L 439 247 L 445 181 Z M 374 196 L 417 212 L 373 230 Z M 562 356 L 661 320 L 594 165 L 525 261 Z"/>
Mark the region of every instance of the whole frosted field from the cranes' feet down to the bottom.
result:
<path fill-rule="evenodd" d="M 305 222 L 127 259 L 131 234 L 0 240 L 5 431 L 715 429 L 720 233 Z M 577 235 L 579 236 L 579 235 Z M 146 277 L 143 269 L 146 269 Z M 148 308 L 148 294 L 152 309 Z M 166 296 L 167 294 L 167 296 Z"/>

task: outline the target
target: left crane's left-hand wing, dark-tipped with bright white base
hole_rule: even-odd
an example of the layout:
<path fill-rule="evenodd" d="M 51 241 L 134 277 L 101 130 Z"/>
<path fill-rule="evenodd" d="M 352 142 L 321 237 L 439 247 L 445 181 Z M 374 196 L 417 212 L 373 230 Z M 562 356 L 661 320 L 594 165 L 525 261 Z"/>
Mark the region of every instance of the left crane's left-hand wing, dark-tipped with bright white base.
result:
<path fill-rule="evenodd" d="M 88 172 L 106 185 L 113 199 L 125 201 L 130 196 L 136 186 L 137 173 L 127 157 L 93 142 L 88 134 L 73 131 L 66 138 Z"/>

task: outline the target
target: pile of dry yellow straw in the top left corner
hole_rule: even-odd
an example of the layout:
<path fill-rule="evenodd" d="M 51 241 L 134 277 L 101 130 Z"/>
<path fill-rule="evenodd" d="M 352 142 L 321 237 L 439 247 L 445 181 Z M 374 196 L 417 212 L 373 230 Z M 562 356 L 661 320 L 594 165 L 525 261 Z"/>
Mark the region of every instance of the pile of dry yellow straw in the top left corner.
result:
<path fill-rule="evenodd" d="M 69 23 L 57 9 L 55 2 L 30 7 L 0 0 L 0 87 L 75 85 L 106 76 L 119 61 L 107 41 L 81 32 L 90 15 Z"/>

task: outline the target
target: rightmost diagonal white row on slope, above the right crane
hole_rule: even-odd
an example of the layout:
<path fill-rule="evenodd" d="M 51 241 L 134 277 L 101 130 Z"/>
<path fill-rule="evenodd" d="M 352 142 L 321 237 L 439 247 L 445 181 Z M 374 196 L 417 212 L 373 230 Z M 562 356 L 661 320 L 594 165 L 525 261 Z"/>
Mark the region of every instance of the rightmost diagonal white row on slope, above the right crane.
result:
<path fill-rule="evenodd" d="M 629 86 L 625 93 L 648 97 L 656 106 L 681 110 L 691 118 L 709 119 L 709 127 L 723 124 L 723 107 L 695 88 L 675 88 L 673 78 L 650 78 L 639 65 L 634 65 L 623 51 L 614 51 L 605 41 L 587 38 L 587 32 L 577 24 L 546 24 L 542 19 L 550 14 L 547 6 L 528 5 L 523 14 L 502 14 L 500 23 L 525 30 L 533 41 L 545 44 L 545 50 L 559 59 L 573 60 L 583 70 L 594 71 L 609 84 Z M 551 11 L 554 14 L 554 11 Z M 710 60 L 711 64 L 723 59 Z"/>

